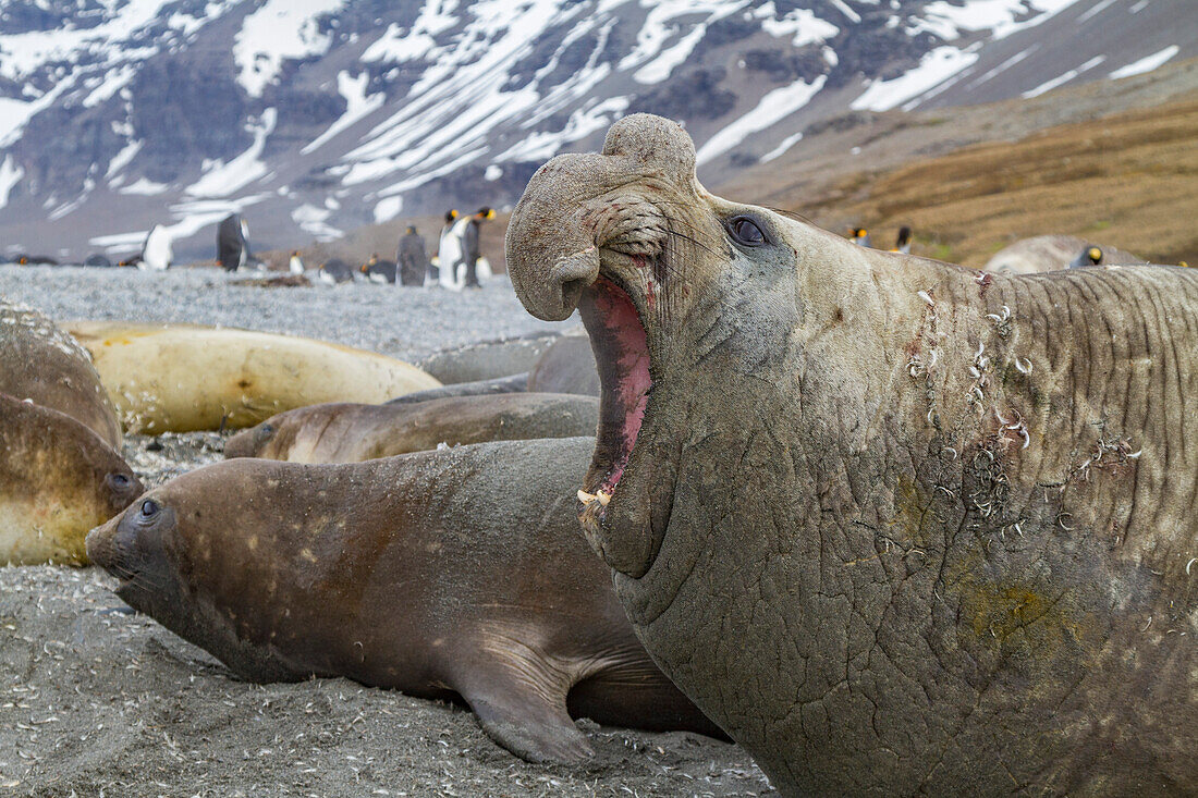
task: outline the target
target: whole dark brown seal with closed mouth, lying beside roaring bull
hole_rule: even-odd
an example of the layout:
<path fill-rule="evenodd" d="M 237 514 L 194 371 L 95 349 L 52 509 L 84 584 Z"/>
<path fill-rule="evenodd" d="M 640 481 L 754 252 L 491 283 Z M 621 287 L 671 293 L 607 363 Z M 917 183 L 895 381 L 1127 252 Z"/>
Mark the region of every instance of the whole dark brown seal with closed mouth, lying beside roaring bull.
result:
<path fill-rule="evenodd" d="M 352 465 L 228 460 L 92 531 L 117 594 L 255 682 L 345 676 L 459 695 L 531 761 L 599 723 L 719 733 L 636 642 L 577 534 L 593 439 Z"/>

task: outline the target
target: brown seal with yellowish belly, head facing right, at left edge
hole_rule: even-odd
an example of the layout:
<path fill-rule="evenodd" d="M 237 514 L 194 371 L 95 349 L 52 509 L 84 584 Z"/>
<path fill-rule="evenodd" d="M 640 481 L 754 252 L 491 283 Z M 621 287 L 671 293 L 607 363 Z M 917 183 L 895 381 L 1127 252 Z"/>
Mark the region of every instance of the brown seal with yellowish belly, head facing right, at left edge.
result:
<path fill-rule="evenodd" d="M 87 530 L 141 490 L 121 455 L 91 429 L 0 394 L 0 564 L 85 564 Z"/>

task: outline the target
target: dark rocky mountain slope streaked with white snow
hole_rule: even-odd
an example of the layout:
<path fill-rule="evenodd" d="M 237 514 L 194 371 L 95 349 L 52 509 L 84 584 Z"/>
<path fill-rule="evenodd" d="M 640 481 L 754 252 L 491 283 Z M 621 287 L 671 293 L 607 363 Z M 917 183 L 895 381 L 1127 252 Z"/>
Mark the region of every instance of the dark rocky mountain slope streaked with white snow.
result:
<path fill-rule="evenodd" d="M 4 0 L 0 252 L 211 258 L 514 201 L 624 114 L 718 185 L 848 110 L 1198 55 L 1193 0 Z"/>

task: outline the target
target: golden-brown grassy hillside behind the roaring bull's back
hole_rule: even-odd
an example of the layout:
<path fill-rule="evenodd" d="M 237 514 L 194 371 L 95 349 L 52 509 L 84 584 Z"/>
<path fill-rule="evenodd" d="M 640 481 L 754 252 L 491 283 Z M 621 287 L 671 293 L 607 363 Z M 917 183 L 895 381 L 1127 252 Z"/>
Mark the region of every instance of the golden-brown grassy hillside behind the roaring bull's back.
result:
<path fill-rule="evenodd" d="M 916 254 L 975 267 L 1054 232 L 1198 265 L 1198 96 L 858 173 L 786 206 L 817 222 L 858 219 L 877 247 L 908 224 Z"/>

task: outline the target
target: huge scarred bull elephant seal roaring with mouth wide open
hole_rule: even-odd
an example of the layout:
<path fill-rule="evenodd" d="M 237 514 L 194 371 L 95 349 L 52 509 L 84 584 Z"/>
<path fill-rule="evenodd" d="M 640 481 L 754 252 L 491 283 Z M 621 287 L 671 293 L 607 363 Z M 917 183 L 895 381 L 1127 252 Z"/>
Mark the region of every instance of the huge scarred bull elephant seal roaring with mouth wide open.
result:
<path fill-rule="evenodd" d="M 864 249 L 646 115 L 507 235 L 595 346 L 583 528 L 783 793 L 1192 794 L 1198 274 Z"/>

